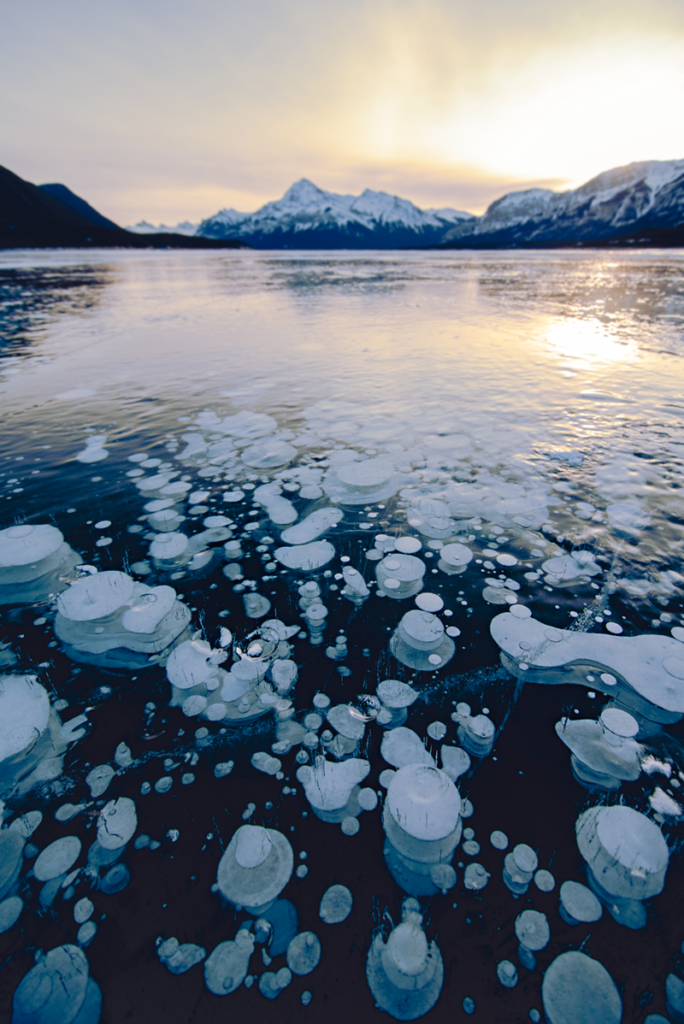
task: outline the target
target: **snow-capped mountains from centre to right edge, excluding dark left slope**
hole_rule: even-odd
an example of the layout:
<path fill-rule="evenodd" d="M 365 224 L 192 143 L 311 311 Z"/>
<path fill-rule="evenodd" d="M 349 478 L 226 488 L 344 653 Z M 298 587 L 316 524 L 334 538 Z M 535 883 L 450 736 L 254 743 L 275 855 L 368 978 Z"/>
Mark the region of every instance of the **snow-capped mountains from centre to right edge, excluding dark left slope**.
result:
<path fill-rule="evenodd" d="M 175 230 L 189 230 L 191 224 Z M 132 230 L 151 230 L 136 225 Z M 367 189 L 326 191 L 302 178 L 256 213 L 220 210 L 198 237 L 240 239 L 256 249 L 553 248 L 684 244 L 684 160 L 645 161 L 605 171 L 580 188 L 529 188 L 496 200 L 481 217 L 421 210 Z"/>

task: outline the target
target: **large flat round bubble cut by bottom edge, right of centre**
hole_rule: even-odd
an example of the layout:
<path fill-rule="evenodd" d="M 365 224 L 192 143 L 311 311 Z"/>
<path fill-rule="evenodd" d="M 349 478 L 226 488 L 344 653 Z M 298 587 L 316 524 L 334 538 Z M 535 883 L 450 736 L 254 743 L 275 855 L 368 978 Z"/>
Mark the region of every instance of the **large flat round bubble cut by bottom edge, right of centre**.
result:
<path fill-rule="evenodd" d="M 623 1004 L 612 978 L 598 961 L 575 950 L 561 953 L 542 983 L 549 1024 L 619 1024 Z"/>

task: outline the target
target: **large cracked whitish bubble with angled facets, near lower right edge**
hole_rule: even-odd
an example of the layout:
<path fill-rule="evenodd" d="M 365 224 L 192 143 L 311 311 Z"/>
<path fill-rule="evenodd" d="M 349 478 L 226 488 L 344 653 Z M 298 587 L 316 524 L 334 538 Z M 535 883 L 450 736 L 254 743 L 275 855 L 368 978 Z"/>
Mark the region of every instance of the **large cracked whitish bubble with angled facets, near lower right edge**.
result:
<path fill-rule="evenodd" d="M 643 900 L 665 886 L 670 851 L 655 824 L 631 807 L 592 807 L 575 824 L 580 853 L 612 896 Z"/>

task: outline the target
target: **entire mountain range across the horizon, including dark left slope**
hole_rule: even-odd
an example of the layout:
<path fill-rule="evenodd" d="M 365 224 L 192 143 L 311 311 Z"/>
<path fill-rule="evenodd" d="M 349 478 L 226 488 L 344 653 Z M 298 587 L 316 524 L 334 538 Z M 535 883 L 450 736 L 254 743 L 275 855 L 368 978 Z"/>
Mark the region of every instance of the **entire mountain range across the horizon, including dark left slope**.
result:
<path fill-rule="evenodd" d="M 34 185 L 0 168 L 0 249 L 47 246 L 255 249 L 545 249 L 684 246 L 684 160 L 604 171 L 579 188 L 508 193 L 477 217 L 422 210 L 366 189 L 318 188 L 302 178 L 255 213 L 220 210 L 174 228 L 123 228 L 63 184 Z"/>

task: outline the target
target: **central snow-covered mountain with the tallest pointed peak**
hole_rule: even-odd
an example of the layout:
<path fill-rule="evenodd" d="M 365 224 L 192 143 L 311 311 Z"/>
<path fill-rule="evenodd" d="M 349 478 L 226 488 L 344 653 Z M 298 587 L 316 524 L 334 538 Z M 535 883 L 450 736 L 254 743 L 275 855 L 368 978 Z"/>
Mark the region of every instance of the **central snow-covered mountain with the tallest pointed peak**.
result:
<path fill-rule="evenodd" d="M 342 196 L 302 178 L 256 213 L 221 210 L 197 233 L 240 239 L 258 249 L 394 249 L 437 244 L 455 225 L 474 219 L 461 210 L 421 210 L 370 188 Z"/>

